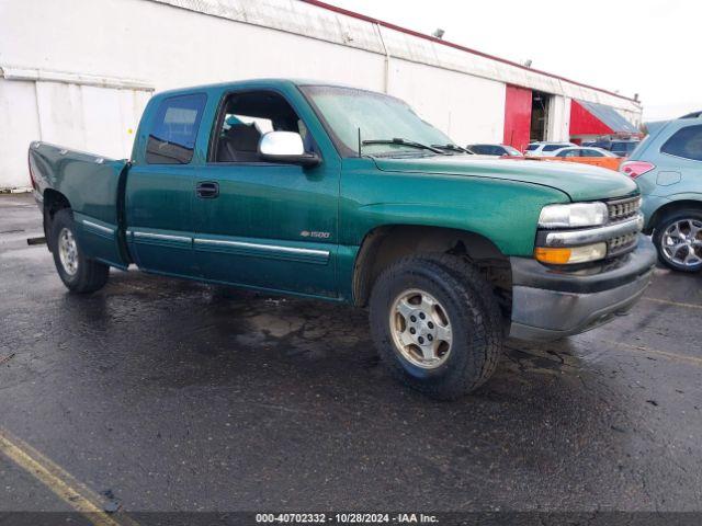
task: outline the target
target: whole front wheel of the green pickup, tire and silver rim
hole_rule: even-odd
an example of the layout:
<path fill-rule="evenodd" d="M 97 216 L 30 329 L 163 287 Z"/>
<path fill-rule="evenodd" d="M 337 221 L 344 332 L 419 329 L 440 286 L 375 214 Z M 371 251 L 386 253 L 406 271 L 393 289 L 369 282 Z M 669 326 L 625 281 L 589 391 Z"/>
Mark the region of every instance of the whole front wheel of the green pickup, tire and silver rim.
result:
<path fill-rule="evenodd" d="M 451 400 L 495 371 L 502 319 L 491 288 L 463 260 L 418 255 L 385 270 L 371 294 L 371 331 L 393 376 Z"/>

